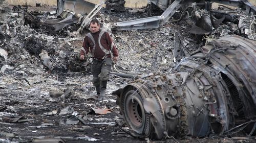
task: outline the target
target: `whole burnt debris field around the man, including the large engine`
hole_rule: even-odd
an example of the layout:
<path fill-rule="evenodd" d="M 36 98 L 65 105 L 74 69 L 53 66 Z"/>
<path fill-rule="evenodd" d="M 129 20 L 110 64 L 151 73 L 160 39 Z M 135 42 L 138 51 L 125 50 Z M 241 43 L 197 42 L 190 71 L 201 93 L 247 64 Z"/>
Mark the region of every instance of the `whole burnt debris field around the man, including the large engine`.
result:
<path fill-rule="evenodd" d="M 255 11 L 190 3 L 123 30 L 164 10 L 118 2 L 88 17 L 0 0 L 0 142 L 256 142 Z M 89 18 L 120 55 L 103 101 L 78 58 Z"/>

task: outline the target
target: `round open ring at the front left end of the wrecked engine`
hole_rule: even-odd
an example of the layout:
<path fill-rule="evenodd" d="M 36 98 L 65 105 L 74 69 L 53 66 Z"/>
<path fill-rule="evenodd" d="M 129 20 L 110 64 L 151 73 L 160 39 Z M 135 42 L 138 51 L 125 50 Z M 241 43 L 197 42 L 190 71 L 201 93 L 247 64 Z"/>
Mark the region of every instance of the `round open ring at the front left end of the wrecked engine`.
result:
<path fill-rule="evenodd" d="M 127 125 L 137 136 L 148 137 L 152 134 L 150 116 L 146 115 L 143 100 L 147 97 L 144 90 L 137 90 L 141 85 L 128 85 L 124 88 L 121 98 L 121 111 Z"/>

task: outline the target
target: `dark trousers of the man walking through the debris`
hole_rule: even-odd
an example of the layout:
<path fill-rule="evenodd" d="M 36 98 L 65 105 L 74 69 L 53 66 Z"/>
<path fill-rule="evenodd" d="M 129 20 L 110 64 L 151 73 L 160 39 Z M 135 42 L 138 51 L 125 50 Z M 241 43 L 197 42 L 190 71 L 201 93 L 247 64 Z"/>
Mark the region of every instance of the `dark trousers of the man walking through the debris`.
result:
<path fill-rule="evenodd" d="M 93 75 L 93 85 L 96 88 L 97 94 L 100 93 L 100 89 L 106 89 L 106 84 L 109 80 L 111 67 L 111 58 L 105 58 L 103 60 L 93 59 L 93 62 L 91 64 L 91 70 Z"/>

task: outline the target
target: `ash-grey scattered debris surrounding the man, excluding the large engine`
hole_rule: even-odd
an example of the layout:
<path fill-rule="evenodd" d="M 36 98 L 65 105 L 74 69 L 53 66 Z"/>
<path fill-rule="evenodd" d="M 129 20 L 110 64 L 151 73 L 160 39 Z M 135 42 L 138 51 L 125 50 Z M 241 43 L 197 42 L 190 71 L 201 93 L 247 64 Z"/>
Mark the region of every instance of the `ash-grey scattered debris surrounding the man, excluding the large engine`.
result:
<path fill-rule="evenodd" d="M 60 4 L 62 8 L 71 4 L 69 2 L 58 1 L 63 3 Z M 124 1 L 109 2 L 109 6 L 124 4 Z M 158 29 L 118 31 L 112 27 L 115 22 L 148 17 L 148 13 L 162 13 L 158 8 L 146 13 L 147 8 L 122 8 L 120 5 L 112 5 L 109 10 L 101 8 L 94 11 L 95 15 L 88 15 L 95 5 L 91 7 L 88 4 L 90 11 L 80 12 L 80 9 L 56 10 L 56 7 L 42 5 L 36 8 L 14 7 L 0 0 L 0 142 L 72 142 L 74 139 L 78 142 L 141 142 L 134 138 L 132 128 L 124 122 L 120 107 L 116 105 L 120 101 L 112 92 L 135 80 L 143 82 L 160 73 L 171 73 L 185 57 L 202 58 L 204 55 L 200 53 L 200 47 L 210 45 L 225 35 L 256 38 L 255 16 L 247 15 L 240 8 L 231 10 L 225 6 L 211 13 L 198 7 L 190 7 L 184 12 L 178 10 Z M 112 68 L 102 102 L 95 100 L 90 55 L 84 61 L 78 58 L 84 34 L 89 32 L 86 25 L 80 31 L 79 28 L 89 22 L 84 20 L 87 16 L 88 19 L 100 19 L 101 28 L 111 33 L 120 55 Z M 213 23 L 209 21 L 212 17 Z M 202 30 L 198 23 L 200 19 L 204 19 L 203 24 L 207 24 L 204 28 L 207 29 Z M 195 26 L 201 31 L 193 31 Z M 186 74 L 184 81 L 189 76 Z M 201 77 L 202 74 L 196 73 L 195 76 Z M 177 75 L 177 78 L 181 77 Z M 153 110 L 149 106 L 147 109 Z M 170 113 L 176 112 L 170 109 Z M 170 118 L 172 114 L 169 114 Z M 240 122 L 247 123 L 245 120 Z M 243 138 L 239 125 L 232 128 L 232 133 L 238 131 L 232 135 L 233 138 L 228 136 L 231 132 L 226 133 L 230 137 L 227 140 L 251 141 L 251 137 Z M 243 127 L 248 125 L 253 127 L 252 122 Z M 167 137 L 171 141 L 178 140 Z M 181 139 L 179 142 L 193 139 Z M 205 141 L 209 138 L 200 139 Z M 225 140 L 216 137 L 213 142 L 220 139 Z"/>

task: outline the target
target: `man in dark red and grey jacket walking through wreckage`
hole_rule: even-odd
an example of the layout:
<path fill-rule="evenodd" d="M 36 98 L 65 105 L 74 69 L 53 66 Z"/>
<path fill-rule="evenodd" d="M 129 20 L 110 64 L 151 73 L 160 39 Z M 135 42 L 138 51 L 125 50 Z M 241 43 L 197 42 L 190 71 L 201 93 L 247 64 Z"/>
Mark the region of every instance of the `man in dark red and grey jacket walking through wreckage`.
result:
<path fill-rule="evenodd" d="M 90 51 L 93 61 L 91 70 L 93 75 L 93 85 L 96 88 L 98 100 L 103 100 L 105 96 L 106 84 L 109 80 L 112 67 L 112 56 L 114 62 L 118 60 L 118 51 L 108 32 L 100 30 L 99 21 L 92 19 L 90 22 L 90 33 L 84 37 L 80 59 Z"/>

